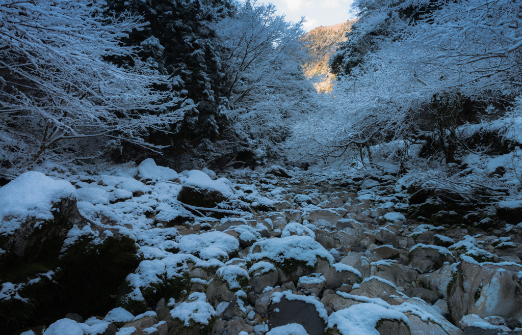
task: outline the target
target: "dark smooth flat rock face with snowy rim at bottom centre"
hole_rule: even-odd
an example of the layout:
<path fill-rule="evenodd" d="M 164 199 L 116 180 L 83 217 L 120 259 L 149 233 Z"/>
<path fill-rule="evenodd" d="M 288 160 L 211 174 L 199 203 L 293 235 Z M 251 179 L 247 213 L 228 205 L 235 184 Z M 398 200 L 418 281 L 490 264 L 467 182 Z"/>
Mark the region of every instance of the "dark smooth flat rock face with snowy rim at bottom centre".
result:
<path fill-rule="evenodd" d="M 272 329 L 288 324 L 300 324 L 309 335 L 322 335 L 326 327 L 314 305 L 283 297 L 270 306 L 268 327 Z"/>

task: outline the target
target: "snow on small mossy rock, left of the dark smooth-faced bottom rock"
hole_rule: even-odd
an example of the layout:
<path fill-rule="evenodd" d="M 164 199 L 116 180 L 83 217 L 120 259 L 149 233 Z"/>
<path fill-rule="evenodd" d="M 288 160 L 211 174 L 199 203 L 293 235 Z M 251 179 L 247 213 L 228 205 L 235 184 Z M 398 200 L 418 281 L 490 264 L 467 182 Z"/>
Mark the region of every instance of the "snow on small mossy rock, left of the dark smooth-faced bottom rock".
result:
<path fill-rule="evenodd" d="M 207 302 L 205 293 L 194 292 L 188 296 L 187 300 L 172 309 L 170 315 L 184 321 L 184 326 L 188 327 L 191 320 L 201 325 L 208 325 L 208 321 L 216 311 Z"/>

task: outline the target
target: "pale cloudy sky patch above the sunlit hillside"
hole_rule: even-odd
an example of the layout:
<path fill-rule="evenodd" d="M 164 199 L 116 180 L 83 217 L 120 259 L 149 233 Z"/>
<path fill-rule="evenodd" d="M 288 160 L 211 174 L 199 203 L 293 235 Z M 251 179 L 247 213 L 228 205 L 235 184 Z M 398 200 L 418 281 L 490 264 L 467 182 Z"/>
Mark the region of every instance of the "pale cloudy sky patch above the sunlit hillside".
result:
<path fill-rule="evenodd" d="M 353 0 L 264 0 L 276 5 L 278 14 L 285 14 L 288 21 L 299 21 L 305 16 L 304 29 L 331 26 L 353 19 L 350 5 Z"/>

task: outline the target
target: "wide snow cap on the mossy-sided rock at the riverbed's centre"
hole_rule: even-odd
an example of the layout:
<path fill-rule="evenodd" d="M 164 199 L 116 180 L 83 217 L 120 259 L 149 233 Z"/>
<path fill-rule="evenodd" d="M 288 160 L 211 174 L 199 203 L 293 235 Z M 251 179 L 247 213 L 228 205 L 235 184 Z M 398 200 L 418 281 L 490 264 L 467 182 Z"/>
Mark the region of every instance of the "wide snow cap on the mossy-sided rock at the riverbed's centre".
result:
<path fill-rule="evenodd" d="M 256 249 L 260 249 L 260 252 L 254 253 Z M 317 256 L 334 264 L 334 257 L 319 242 L 307 236 L 294 235 L 256 242 L 251 246 L 246 259 L 247 262 L 255 262 L 268 258 L 281 264 L 287 259 L 294 259 L 307 266 L 315 266 Z"/>

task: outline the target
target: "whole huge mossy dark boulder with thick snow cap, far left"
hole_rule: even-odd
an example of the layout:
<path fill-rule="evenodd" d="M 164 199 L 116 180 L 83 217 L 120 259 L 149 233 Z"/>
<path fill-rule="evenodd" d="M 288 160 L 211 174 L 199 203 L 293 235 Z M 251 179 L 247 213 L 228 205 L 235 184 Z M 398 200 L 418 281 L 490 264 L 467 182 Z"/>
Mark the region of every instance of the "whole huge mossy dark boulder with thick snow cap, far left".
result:
<path fill-rule="evenodd" d="M 0 188 L 0 329 L 110 305 L 137 266 L 134 239 L 81 216 L 75 188 L 26 172 Z"/>

